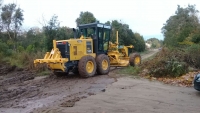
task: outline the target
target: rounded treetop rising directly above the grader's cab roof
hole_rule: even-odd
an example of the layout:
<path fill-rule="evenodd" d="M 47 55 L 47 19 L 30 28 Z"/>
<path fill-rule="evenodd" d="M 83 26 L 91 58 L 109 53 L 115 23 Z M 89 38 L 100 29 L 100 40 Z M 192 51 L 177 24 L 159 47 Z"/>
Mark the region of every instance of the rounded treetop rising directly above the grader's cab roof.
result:
<path fill-rule="evenodd" d="M 93 23 L 96 22 L 96 18 L 91 12 L 81 12 L 79 17 L 76 19 L 76 24 L 77 26 L 80 24 L 88 24 L 88 23 Z"/>

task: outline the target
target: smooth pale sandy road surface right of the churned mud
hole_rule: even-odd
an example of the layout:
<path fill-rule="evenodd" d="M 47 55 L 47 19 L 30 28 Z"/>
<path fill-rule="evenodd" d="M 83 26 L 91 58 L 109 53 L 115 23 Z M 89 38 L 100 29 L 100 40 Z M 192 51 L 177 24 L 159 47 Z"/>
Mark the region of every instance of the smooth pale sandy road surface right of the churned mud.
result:
<path fill-rule="evenodd" d="M 63 108 L 63 113 L 199 113 L 200 93 L 144 79 L 119 78 L 105 93 Z M 56 110 L 56 108 L 54 108 Z"/>

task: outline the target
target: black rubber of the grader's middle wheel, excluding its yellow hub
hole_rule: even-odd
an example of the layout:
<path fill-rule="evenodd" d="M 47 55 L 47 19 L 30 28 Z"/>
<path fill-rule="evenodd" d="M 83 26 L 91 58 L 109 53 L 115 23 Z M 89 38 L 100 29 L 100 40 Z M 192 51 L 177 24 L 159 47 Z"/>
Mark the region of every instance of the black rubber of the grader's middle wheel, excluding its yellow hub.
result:
<path fill-rule="evenodd" d="M 106 70 L 104 70 L 102 67 L 102 61 L 103 60 L 106 60 L 108 62 L 108 68 Z M 107 55 L 105 54 L 101 54 L 101 55 L 98 55 L 96 57 L 96 63 L 97 63 L 97 73 L 100 74 L 100 75 L 105 75 L 105 74 L 108 74 L 109 71 L 110 71 L 110 60 L 108 58 Z"/>

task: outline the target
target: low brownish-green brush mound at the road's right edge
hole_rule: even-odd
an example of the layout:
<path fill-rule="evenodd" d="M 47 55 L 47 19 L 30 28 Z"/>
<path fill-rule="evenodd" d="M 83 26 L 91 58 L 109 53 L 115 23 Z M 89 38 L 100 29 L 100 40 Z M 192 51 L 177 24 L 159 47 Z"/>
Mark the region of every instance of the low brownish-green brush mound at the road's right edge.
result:
<path fill-rule="evenodd" d="M 200 45 L 185 48 L 163 48 L 153 59 L 144 61 L 142 69 L 153 77 L 178 77 L 189 71 L 189 67 L 200 68 Z"/>

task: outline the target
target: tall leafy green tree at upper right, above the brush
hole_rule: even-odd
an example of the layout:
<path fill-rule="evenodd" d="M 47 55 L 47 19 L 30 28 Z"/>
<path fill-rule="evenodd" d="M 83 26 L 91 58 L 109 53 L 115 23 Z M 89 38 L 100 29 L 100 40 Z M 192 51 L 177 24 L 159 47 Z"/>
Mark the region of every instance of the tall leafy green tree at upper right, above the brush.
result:
<path fill-rule="evenodd" d="M 178 46 L 179 42 L 190 38 L 189 36 L 199 26 L 197 13 L 195 5 L 188 5 L 186 8 L 178 5 L 175 15 L 171 16 L 162 27 L 162 33 L 165 36 L 164 43 L 169 46 Z"/>

